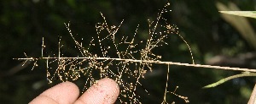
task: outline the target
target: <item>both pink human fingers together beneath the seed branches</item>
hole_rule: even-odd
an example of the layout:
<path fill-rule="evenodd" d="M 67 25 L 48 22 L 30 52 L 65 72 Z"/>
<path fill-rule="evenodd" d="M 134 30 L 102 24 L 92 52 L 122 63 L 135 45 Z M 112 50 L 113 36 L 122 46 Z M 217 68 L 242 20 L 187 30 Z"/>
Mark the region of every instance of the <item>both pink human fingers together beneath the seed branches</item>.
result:
<path fill-rule="evenodd" d="M 30 104 L 113 104 L 119 96 L 119 85 L 113 79 L 100 79 L 79 97 L 79 87 L 63 82 L 45 90 Z M 79 97 L 79 98 L 78 98 Z"/>

